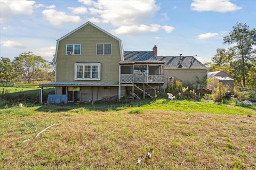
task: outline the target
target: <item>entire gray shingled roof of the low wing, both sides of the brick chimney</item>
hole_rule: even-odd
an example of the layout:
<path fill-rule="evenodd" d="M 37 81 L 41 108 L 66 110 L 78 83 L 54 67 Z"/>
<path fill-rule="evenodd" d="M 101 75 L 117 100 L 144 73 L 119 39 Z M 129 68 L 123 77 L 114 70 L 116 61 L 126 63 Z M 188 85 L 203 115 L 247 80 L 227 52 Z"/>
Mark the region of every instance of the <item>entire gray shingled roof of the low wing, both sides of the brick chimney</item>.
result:
<path fill-rule="evenodd" d="M 153 51 L 124 52 L 124 61 L 163 61 L 167 69 L 177 69 L 180 65 L 180 56 L 158 56 L 157 59 Z M 182 56 L 181 65 L 182 69 L 207 69 L 193 56 Z"/>

